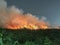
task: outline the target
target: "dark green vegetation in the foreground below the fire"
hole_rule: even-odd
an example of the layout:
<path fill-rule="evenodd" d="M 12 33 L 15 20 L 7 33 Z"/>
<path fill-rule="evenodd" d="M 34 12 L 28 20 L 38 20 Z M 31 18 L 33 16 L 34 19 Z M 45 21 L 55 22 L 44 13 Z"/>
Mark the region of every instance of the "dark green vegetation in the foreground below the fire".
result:
<path fill-rule="evenodd" d="M 1 45 L 60 45 L 60 30 L 58 29 L 1 29 Z"/>

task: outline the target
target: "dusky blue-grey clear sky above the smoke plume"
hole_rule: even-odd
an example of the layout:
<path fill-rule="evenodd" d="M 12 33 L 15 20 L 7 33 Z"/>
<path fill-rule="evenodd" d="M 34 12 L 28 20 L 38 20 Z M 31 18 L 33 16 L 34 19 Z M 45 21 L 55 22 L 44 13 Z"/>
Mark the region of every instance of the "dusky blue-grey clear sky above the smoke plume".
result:
<path fill-rule="evenodd" d="M 25 13 L 38 18 L 46 17 L 51 24 L 60 26 L 60 0 L 5 0 L 8 7 L 15 5 Z"/>

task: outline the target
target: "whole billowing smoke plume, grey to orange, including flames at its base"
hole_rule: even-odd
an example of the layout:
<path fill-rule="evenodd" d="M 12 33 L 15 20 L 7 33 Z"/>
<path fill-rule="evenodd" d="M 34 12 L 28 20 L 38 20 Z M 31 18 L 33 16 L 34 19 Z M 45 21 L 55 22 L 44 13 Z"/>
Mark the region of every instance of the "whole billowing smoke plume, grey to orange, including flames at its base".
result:
<path fill-rule="evenodd" d="M 7 3 L 4 0 L 0 0 L 0 27 L 2 28 L 20 28 L 27 27 L 31 28 L 42 28 L 49 25 L 45 22 L 46 17 L 38 19 L 30 13 L 24 14 L 22 9 L 18 9 L 15 6 L 7 8 Z M 28 28 L 30 28 L 28 26 Z"/>

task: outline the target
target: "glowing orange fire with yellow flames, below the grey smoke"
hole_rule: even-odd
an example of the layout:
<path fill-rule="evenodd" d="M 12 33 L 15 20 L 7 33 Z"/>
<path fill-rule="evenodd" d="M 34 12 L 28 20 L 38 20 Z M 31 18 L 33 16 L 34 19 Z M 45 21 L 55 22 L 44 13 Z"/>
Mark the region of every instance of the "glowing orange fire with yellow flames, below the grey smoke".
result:
<path fill-rule="evenodd" d="M 48 24 L 46 22 L 40 21 L 32 15 L 16 15 L 12 17 L 10 17 L 12 19 L 7 21 L 7 24 L 4 26 L 5 28 L 8 29 L 22 29 L 22 28 L 47 29 L 48 28 Z"/>

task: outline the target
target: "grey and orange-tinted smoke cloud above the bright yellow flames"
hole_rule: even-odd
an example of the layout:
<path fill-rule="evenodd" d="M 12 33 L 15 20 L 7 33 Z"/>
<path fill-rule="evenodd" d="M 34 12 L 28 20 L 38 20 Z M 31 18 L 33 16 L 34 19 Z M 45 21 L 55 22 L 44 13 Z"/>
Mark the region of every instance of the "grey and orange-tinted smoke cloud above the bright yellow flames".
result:
<path fill-rule="evenodd" d="M 39 19 L 32 14 L 23 13 L 24 11 L 22 9 L 18 9 L 15 6 L 7 8 L 7 3 L 4 0 L 0 0 L 0 27 L 5 28 L 6 25 L 9 25 L 9 23 L 20 25 L 19 20 L 15 21 L 15 19 L 19 19 L 20 17 L 23 17 L 29 23 L 37 24 L 39 26 L 42 22 L 44 22 L 44 20 L 47 20 L 44 16 Z"/>

